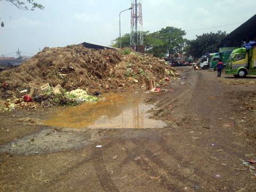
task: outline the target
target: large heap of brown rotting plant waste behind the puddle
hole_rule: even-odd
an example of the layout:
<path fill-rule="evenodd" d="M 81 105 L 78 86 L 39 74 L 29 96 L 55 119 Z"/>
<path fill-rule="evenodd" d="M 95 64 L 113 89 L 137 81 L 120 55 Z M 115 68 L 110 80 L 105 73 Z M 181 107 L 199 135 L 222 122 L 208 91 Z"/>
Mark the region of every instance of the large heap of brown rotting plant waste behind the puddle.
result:
<path fill-rule="evenodd" d="M 45 48 L 16 69 L 0 73 L 3 95 L 10 91 L 61 85 L 67 91 L 77 88 L 92 93 L 139 87 L 148 79 L 163 81 L 165 77 L 178 75 L 165 61 L 152 55 L 142 55 L 129 49 L 93 50 L 82 46 Z M 163 81 L 164 82 L 164 81 Z"/>

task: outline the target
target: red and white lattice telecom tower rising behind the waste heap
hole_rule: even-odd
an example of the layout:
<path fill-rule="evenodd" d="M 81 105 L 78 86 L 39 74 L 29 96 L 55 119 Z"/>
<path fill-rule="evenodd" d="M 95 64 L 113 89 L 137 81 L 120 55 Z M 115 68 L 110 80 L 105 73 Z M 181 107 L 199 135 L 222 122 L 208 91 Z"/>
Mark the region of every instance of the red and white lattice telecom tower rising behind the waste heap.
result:
<path fill-rule="evenodd" d="M 131 48 L 144 52 L 142 29 L 142 0 L 131 0 Z"/>

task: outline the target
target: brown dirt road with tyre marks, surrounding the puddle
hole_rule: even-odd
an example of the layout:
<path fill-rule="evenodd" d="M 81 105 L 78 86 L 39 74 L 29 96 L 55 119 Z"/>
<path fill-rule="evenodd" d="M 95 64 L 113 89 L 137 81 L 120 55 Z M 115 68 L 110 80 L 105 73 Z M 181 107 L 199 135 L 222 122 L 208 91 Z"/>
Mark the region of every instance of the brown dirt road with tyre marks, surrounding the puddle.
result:
<path fill-rule="evenodd" d="M 146 96 L 157 106 L 151 118 L 167 123 L 161 129 L 79 131 L 1 114 L 0 191 L 256 191 L 256 166 L 243 162 L 256 158 L 255 85 L 178 70 L 169 91 Z"/>

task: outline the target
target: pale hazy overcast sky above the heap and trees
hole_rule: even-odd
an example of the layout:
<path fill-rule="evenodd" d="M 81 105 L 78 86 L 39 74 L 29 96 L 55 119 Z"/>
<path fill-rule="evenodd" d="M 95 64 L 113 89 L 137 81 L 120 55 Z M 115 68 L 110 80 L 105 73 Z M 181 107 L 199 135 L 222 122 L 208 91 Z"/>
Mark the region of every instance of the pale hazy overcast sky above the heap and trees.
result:
<path fill-rule="evenodd" d="M 110 45 L 119 36 L 119 12 L 131 6 L 130 0 L 36 2 L 45 9 L 23 11 L 0 1 L 0 21 L 5 23 L 0 27 L 0 55 L 18 47 L 34 54 L 45 46 L 82 42 Z M 186 30 L 188 39 L 211 31 L 230 33 L 256 14 L 255 7 L 256 0 L 142 0 L 143 30 L 173 26 Z M 121 18 L 122 34 L 130 33 L 130 11 L 122 13 Z M 223 27 L 203 29 L 215 26 Z"/>

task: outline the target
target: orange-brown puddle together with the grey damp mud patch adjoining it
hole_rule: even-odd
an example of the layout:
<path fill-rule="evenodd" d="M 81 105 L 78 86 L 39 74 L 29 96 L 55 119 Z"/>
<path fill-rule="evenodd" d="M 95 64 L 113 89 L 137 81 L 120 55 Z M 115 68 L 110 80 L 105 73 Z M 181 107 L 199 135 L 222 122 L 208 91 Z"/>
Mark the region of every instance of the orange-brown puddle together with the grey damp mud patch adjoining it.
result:
<path fill-rule="evenodd" d="M 145 135 L 143 128 L 165 127 L 164 122 L 150 119 L 147 111 L 154 106 L 143 103 L 144 94 L 145 91 L 108 94 L 102 96 L 101 102 L 62 108 L 51 119 L 42 121 L 41 129 L 5 143 L 0 152 L 29 155 L 82 149 L 105 138 L 100 134 L 102 129 L 119 129 L 118 137 L 139 137 L 134 131 L 129 136 L 128 128 L 139 128 L 135 132 L 143 131 L 139 134 Z"/>

